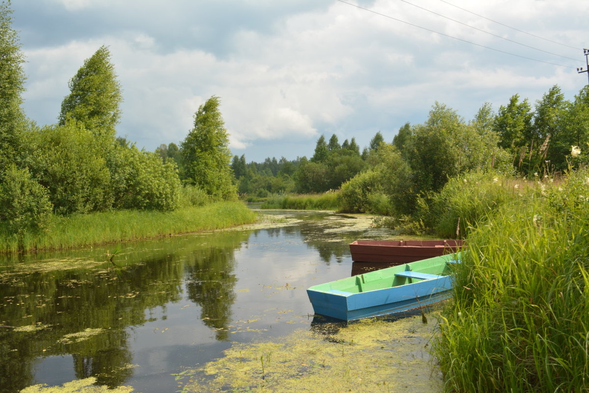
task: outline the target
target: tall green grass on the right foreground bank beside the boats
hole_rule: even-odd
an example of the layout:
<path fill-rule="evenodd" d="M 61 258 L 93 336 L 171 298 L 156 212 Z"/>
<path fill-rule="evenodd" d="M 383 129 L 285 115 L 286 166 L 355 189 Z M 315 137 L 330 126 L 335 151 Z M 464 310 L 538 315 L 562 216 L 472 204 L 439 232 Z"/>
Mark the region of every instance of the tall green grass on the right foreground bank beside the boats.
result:
<path fill-rule="evenodd" d="M 588 391 L 588 191 L 587 171 L 519 187 L 471 230 L 435 345 L 446 391 Z"/>

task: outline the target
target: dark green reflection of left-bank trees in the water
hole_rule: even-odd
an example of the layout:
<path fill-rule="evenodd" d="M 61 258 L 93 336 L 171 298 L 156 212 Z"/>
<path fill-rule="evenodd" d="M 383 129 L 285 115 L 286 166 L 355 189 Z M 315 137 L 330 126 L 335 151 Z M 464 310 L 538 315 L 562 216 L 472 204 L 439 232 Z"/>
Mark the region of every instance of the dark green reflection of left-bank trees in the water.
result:
<path fill-rule="evenodd" d="M 217 339 L 227 339 L 235 298 L 233 250 L 246 239 L 247 233 L 217 233 L 196 248 L 170 240 L 161 249 L 129 253 L 117 261 L 123 269 L 98 263 L 101 255 L 95 252 L 90 252 L 93 269 L 65 265 L 45 272 L 44 262 L 34 257 L 22 260 L 27 265 L 20 269 L 5 264 L 0 324 L 14 327 L 0 328 L 1 391 L 31 385 L 35 363 L 55 355 L 72 356 L 75 378 L 96 377 L 109 387 L 124 384 L 133 374 L 127 327 L 154 322 L 157 318 L 146 311 L 178 302 L 185 276 L 188 298 L 202 306 L 205 324 L 219 329 Z M 165 312 L 160 318 L 166 319 Z M 19 326 L 31 331 L 19 331 Z M 84 336 L 87 329 L 98 333 Z M 64 339 L 76 333 L 82 335 Z"/>

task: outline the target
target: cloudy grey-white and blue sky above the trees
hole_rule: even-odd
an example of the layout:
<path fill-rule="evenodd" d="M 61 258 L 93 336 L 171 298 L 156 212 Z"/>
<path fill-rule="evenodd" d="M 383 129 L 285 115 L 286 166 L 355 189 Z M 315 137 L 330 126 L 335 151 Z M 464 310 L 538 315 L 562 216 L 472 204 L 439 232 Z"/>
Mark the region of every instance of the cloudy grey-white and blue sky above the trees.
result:
<path fill-rule="evenodd" d="M 212 95 L 233 154 L 262 161 L 310 157 L 321 134 L 356 137 L 360 147 L 377 131 L 392 141 L 406 122 L 423 123 L 435 101 L 469 120 L 485 102 L 497 109 L 517 93 L 535 103 L 555 84 L 572 100 L 587 83 L 576 68 L 589 47 L 589 2 L 578 0 L 13 0 L 12 8 L 28 60 L 28 116 L 55 123 L 68 80 L 108 45 L 123 87 L 118 134 L 152 151 L 182 141 Z"/>

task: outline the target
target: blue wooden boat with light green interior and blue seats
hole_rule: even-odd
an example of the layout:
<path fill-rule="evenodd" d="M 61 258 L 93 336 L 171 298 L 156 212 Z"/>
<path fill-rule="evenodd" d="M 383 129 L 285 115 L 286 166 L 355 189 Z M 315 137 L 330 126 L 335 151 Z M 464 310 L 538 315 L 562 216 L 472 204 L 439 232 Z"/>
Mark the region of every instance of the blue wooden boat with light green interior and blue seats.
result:
<path fill-rule="evenodd" d="M 428 306 L 452 295 L 452 266 L 459 254 L 405 263 L 307 289 L 313 311 L 343 321 Z"/>

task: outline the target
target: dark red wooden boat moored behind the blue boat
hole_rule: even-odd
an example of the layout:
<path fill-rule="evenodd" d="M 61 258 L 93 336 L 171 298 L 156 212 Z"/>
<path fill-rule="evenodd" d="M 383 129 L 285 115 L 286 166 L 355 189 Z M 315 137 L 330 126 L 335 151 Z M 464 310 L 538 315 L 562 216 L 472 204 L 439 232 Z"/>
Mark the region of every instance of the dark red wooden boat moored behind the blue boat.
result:
<path fill-rule="evenodd" d="M 356 240 L 350 243 L 352 276 L 451 254 L 462 246 L 463 240 Z"/>

